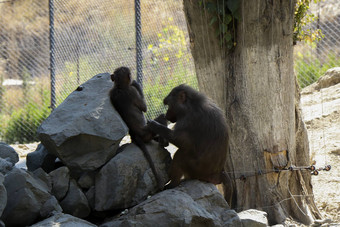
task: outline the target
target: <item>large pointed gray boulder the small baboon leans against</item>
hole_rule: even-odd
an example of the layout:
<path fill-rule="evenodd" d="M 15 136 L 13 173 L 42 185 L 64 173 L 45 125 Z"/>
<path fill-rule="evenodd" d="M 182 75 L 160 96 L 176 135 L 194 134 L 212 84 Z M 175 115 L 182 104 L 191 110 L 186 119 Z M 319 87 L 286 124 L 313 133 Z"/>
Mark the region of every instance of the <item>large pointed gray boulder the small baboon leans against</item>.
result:
<path fill-rule="evenodd" d="M 41 143 L 71 172 L 95 170 L 115 154 L 128 128 L 110 103 L 110 75 L 72 92 L 38 128 Z"/>

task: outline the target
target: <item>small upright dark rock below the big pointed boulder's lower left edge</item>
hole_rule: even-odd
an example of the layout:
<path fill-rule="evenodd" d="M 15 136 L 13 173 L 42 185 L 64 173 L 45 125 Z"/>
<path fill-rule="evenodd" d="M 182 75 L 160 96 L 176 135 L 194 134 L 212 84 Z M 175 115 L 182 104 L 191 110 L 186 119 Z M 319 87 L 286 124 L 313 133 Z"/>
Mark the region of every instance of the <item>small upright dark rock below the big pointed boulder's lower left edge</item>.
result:
<path fill-rule="evenodd" d="M 53 170 L 49 175 L 52 180 L 52 195 L 60 201 L 66 196 L 68 191 L 70 184 L 70 171 L 66 166 L 63 166 Z"/>

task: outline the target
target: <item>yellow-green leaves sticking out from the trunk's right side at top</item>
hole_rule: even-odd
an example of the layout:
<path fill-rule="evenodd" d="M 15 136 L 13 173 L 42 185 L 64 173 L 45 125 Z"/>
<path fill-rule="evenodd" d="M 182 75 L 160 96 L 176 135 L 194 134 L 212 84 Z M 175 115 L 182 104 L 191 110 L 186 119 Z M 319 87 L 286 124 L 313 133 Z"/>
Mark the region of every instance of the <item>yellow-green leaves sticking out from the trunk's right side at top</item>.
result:
<path fill-rule="evenodd" d="M 308 13 L 309 5 L 312 0 L 297 0 L 295 5 L 295 22 L 294 22 L 294 35 L 293 42 L 297 41 L 319 41 L 322 38 L 320 29 L 312 30 L 307 28 L 307 25 L 317 19 L 314 14 Z M 319 2 L 320 0 L 314 0 Z"/>

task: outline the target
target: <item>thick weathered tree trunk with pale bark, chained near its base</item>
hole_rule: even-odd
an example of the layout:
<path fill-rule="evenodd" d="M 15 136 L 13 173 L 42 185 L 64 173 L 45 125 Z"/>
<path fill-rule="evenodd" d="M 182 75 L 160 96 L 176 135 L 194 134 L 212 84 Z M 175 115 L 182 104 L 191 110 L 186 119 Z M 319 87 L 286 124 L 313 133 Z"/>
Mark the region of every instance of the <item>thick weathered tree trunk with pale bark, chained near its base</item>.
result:
<path fill-rule="evenodd" d="M 184 0 L 184 11 L 200 91 L 226 112 L 226 168 L 237 198 L 231 206 L 264 210 L 270 224 L 288 217 L 312 223 L 320 214 L 310 172 L 285 170 L 310 165 L 293 70 L 295 1 L 241 1 L 230 51 L 221 47 L 212 15 L 199 2 Z"/>

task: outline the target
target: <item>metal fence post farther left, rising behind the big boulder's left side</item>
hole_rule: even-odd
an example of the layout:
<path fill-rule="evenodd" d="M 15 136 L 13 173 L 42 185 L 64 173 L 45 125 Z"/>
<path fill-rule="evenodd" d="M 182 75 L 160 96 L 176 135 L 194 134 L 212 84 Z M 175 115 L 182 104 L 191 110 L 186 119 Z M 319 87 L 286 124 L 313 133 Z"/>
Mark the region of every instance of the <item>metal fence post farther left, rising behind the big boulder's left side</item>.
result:
<path fill-rule="evenodd" d="M 54 60 L 54 4 L 49 0 L 49 23 L 50 23 L 50 74 L 51 74 L 51 109 L 55 108 L 55 60 Z"/>

